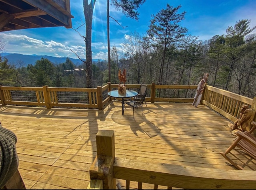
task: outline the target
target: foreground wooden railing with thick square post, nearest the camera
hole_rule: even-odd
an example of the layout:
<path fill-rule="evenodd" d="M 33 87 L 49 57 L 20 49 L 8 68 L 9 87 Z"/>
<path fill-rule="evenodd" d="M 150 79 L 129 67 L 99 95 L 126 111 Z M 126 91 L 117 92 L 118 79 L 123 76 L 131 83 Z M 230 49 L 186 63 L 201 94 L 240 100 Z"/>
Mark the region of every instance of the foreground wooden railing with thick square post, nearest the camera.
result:
<path fill-rule="evenodd" d="M 221 170 L 162 163 L 145 163 L 115 157 L 114 131 L 100 130 L 96 135 L 97 156 L 90 167 L 87 189 L 115 189 L 116 179 L 126 180 L 125 189 L 254 189 L 254 171 Z M 137 187 L 130 187 L 137 182 Z M 152 186 L 150 186 L 152 184 Z"/>

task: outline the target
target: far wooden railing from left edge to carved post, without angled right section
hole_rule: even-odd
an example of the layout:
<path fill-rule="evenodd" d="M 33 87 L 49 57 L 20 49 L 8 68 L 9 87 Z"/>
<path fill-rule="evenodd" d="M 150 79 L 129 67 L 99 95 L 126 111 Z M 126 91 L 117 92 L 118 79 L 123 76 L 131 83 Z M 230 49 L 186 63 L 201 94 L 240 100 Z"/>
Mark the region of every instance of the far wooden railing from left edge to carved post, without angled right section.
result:
<path fill-rule="evenodd" d="M 148 86 L 148 102 L 192 103 L 192 98 L 156 97 L 157 90 L 194 90 L 196 85 L 156 85 Z M 0 85 L 0 103 L 2 105 L 25 105 L 52 107 L 78 107 L 103 109 L 111 99 L 108 91 L 117 89 L 118 84 L 108 83 L 97 88 L 56 88 L 56 87 L 6 87 Z M 127 89 L 138 90 L 140 85 L 127 84 Z M 194 93 L 193 92 L 193 93 Z"/>

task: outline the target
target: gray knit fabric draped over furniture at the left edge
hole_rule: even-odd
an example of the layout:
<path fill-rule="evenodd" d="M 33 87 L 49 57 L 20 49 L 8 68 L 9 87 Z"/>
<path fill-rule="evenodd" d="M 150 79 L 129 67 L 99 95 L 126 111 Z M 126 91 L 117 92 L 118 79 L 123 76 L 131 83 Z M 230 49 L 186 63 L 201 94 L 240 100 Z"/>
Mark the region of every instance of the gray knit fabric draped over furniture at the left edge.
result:
<path fill-rule="evenodd" d="M 16 143 L 16 135 L 9 129 L 2 127 L 0 123 L 0 189 L 18 169 L 19 158 Z"/>

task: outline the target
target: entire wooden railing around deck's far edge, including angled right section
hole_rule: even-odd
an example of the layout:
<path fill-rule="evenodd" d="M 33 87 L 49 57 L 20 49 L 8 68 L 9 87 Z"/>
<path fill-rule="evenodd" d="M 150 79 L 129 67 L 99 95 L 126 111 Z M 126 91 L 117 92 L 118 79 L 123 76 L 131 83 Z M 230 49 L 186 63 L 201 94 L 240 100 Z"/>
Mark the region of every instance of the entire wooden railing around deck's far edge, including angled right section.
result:
<path fill-rule="evenodd" d="M 108 101 L 111 101 L 108 92 L 117 87 L 118 84 L 111 83 L 97 88 L 5 87 L 0 85 L 0 103 L 2 105 L 45 106 L 49 109 L 52 107 L 103 109 Z M 138 90 L 139 87 L 139 84 L 126 84 L 127 89 Z M 192 103 L 197 85 L 156 85 L 152 83 L 147 87 L 146 102 Z M 162 91 L 162 94 L 173 94 L 174 97 L 165 97 L 166 95 L 158 97 L 159 91 Z M 256 97 L 251 99 L 206 85 L 201 104 L 233 122 L 239 118 L 239 109 L 242 104 L 246 104 L 254 111 L 253 121 L 256 120 Z"/>

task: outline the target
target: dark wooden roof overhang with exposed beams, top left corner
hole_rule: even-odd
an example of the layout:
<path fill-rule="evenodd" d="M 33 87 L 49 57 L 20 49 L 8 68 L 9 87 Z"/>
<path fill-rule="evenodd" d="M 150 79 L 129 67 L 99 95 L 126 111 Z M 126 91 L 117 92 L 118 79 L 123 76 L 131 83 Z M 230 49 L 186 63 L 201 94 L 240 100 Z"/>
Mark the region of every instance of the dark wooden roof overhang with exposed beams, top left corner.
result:
<path fill-rule="evenodd" d="M 70 0 L 0 0 L 0 32 L 27 28 L 72 28 Z"/>

